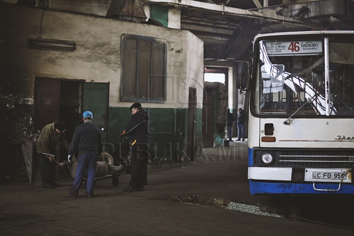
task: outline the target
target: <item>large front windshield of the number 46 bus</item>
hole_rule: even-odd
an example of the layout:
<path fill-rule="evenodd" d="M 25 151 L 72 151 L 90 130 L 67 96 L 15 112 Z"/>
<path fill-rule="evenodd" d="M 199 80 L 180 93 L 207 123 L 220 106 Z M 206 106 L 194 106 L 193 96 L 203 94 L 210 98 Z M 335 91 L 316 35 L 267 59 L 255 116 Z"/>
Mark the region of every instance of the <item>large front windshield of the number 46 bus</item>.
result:
<path fill-rule="evenodd" d="M 328 39 L 329 83 L 324 47 L 323 39 L 261 40 L 253 111 L 271 116 L 354 116 L 354 43 Z"/>

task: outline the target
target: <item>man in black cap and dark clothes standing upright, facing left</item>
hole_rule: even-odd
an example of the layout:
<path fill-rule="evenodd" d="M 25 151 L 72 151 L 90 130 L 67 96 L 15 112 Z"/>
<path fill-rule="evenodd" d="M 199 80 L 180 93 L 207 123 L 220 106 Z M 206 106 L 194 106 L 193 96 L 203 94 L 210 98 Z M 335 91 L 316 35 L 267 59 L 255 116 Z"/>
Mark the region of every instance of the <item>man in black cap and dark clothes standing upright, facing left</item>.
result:
<path fill-rule="evenodd" d="M 148 158 L 151 148 L 150 114 L 139 102 L 134 103 L 129 110 L 132 111 L 131 119 L 120 134 L 120 137 L 129 135 L 128 143 L 131 148 L 131 179 L 123 192 L 144 191 L 148 181 Z"/>

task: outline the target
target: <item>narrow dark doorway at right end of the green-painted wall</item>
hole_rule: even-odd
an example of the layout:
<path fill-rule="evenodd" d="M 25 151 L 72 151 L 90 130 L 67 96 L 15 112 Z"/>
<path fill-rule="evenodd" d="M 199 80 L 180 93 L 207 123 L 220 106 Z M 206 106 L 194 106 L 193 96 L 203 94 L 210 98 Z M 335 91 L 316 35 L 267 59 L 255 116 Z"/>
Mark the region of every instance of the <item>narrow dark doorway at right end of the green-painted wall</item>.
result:
<path fill-rule="evenodd" d="M 188 103 L 188 148 L 187 155 L 191 161 L 194 160 L 196 146 L 196 116 L 197 116 L 197 89 L 189 87 Z"/>

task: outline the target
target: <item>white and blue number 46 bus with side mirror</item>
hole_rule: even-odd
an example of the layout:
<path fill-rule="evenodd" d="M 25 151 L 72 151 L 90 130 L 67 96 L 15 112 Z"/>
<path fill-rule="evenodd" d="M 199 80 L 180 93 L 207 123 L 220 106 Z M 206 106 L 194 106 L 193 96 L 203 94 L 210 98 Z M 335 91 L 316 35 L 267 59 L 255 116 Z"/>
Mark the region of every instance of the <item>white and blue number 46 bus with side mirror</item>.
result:
<path fill-rule="evenodd" d="M 251 195 L 354 194 L 354 31 L 259 34 L 251 58 Z"/>

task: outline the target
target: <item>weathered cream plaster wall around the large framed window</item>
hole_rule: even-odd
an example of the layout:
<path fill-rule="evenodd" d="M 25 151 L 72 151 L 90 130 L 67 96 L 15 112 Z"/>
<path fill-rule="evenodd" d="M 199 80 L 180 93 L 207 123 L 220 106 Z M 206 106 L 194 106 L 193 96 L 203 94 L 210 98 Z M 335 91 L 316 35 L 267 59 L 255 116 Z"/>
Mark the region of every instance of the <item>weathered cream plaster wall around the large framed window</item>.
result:
<path fill-rule="evenodd" d="M 201 118 L 203 41 L 191 32 L 5 3 L 1 7 L 0 109 L 5 114 L 2 118 L 7 119 L 1 120 L 0 126 L 1 133 L 11 134 L 12 142 L 24 142 L 32 132 L 36 77 L 110 82 L 109 107 L 111 116 L 114 114 L 115 117 L 110 118 L 111 131 L 108 133 L 109 140 L 116 142 L 130 118 L 127 108 L 133 103 L 120 101 L 123 33 L 167 41 L 167 100 L 143 105 L 151 110 L 151 118 L 159 118 L 159 123 L 152 121 L 155 122 L 152 129 L 161 130 L 157 127 L 161 122 L 175 120 L 172 136 L 179 142 L 185 140 L 189 87 L 197 88 L 197 113 Z M 29 49 L 29 37 L 75 41 L 76 50 Z M 16 119 L 20 114 L 21 119 Z M 197 130 L 200 132 L 197 140 L 201 142 L 201 122 L 200 127 L 197 124 Z M 166 137 L 156 136 L 155 141 L 162 139 L 166 140 Z"/>

